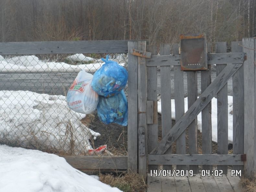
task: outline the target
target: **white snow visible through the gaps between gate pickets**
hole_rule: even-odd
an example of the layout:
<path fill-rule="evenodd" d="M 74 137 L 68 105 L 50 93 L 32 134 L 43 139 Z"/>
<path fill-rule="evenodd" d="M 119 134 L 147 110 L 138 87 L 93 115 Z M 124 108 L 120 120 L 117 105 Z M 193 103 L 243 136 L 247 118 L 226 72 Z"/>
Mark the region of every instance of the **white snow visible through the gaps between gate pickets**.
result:
<path fill-rule="evenodd" d="M 228 98 L 228 143 L 233 143 L 233 116 L 230 113 L 233 111 L 233 97 Z M 188 97 L 184 98 L 185 112 L 188 110 Z M 157 101 L 157 111 L 161 114 L 161 99 Z M 175 102 L 171 99 L 171 118 L 175 120 Z M 197 128 L 202 132 L 202 115 L 197 116 Z M 212 141 L 217 142 L 217 99 L 212 99 Z"/>

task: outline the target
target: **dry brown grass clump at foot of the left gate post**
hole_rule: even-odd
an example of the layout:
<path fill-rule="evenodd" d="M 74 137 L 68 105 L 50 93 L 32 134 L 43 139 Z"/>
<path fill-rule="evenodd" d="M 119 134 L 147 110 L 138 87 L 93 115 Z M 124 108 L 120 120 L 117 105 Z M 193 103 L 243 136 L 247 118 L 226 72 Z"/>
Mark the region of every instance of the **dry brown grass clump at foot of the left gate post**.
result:
<path fill-rule="evenodd" d="M 112 187 L 117 187 L 123 192 L 146 192 L 147 189 L 143 177 L 130 171 L 123 172 L 119 176 L 100 174 L 99 180 Z"/>

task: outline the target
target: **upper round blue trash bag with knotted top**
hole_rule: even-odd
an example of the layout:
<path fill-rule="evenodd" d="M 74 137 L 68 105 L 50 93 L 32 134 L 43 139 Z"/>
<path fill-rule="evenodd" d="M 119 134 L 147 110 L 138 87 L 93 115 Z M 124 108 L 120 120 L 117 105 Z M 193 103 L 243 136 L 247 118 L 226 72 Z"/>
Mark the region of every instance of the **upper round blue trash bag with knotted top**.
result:
<path fill-rule="evenodd" d="M 125 87 L 128 79 L 128 72 L 117 62 L 101 58 L 103 64 L 93 75 L 91 87 L 99 95 L 109 97 L 119 94 Z"/>

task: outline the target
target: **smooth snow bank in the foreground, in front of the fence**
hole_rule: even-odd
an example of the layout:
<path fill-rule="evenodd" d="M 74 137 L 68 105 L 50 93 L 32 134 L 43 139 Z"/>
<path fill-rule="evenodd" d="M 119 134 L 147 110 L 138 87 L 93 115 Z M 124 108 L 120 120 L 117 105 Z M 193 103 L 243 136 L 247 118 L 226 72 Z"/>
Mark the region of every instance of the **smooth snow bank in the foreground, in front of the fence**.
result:
<path fill-rule="evenodd" d="M 0 192 L 121 192 L 38 150 L 0 145 L 0 167 Z"/>

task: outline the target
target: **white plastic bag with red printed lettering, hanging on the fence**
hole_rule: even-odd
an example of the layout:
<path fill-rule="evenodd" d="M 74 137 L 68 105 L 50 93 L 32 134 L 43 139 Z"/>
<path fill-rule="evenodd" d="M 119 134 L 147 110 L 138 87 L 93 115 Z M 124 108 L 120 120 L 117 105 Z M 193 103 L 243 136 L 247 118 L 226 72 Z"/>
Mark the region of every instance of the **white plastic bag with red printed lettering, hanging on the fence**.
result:
<path fill-rule="evenodd" d="M 91 88 L 93 75 L 81 70 L 67 92 L 67 106 L 78 113 L 90 114 L 98 105 L 99 95 Z"/>

